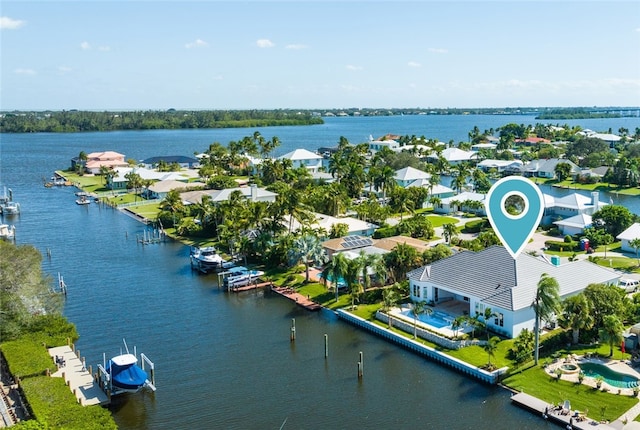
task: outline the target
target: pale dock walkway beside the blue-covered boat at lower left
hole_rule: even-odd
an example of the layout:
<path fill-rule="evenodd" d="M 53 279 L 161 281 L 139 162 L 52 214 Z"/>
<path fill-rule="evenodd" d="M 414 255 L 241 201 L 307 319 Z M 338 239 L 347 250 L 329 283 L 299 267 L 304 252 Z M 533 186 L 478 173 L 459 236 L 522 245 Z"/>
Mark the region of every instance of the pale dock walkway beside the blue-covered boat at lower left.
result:
<path fill-rule="evenodd" d="M 82 406 L 109 404 L 107 394 L 102 391 L 70 346 L 49 348 L 49 355 L 54 360 L 54 364 L 56 357 L 62 357 L 63 365 L 58 366 L 58 370 L 51 373 L 51 376 L 64 378 L 65 383 L 78 399 L 78 403 Z"/>

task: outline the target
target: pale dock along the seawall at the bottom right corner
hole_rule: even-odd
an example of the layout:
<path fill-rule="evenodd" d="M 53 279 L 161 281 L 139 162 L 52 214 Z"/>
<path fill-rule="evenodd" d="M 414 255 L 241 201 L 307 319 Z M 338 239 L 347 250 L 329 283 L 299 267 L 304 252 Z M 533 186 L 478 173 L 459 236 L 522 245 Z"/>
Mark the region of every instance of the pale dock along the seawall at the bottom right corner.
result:
<path fill-rule="evenodd" d="M 514 394 L 511 396 L 511 401 L 520 407 L 539 413 L 542 417 L 545 417 L 546 412 L 545 419 L 556 424 L 560 424 L 565 428 L 571 427 L 572 429 L 585 430 L 612 430 L 621 429 L 624 426 L 624 423 L 620 419 L 613 423 L 602 423 L 589 417 L 585 417 L 578 411 L 567 410 L 562 407 L 550 405 L 549 403 L 526 393 Z M 632 418 L 629 418 L 629 421 L 631 420 Z"/>

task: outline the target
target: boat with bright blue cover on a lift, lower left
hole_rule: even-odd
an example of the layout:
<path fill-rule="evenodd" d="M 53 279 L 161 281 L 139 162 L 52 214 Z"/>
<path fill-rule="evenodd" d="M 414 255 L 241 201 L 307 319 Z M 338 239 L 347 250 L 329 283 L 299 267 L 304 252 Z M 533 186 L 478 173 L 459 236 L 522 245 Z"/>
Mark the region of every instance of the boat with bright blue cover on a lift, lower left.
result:
<path fill-rule="evenodd" d="M 120 393 L 136 393 L 142 389 L 149 389 L 155 391 L 156 387 L 153 381 L 154 365 L 144 355 L 140 354 L 143 365 L 138 366 L 138 358 L 134 354 L 129 353 L 127 342 L 124 342 L 126 353 L 121 353 L 115 357 L 112 357 L 107 361 L 103 368 L 98 365 L 103 377 L 103 384 L 111 391 L 111 394 Z M 122 352 L 122 351 L 121 351 Z M 144 363 L 149 364 L 151 372 L 151 380 L 149 375 L 144 370 Z"/>

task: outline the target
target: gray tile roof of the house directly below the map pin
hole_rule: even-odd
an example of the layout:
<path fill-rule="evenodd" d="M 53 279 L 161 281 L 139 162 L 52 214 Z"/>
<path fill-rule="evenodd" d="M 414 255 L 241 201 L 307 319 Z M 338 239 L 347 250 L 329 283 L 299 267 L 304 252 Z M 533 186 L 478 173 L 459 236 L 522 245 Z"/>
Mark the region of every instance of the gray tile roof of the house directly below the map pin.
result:
<path fill-rule="evenodd" d="M 540 257 L 520 254 L 517 260 L 503 246 L 464 251 L 407 274 L 414 281 L 475 297 L 483 303 L 516 311 L 531 306 L 538 281 L 547 273 L 558 281 L 560 297 L 577 294 L 592 283 L 614 283 L 620 275 L 587 260 L 555 266 Z"/>

